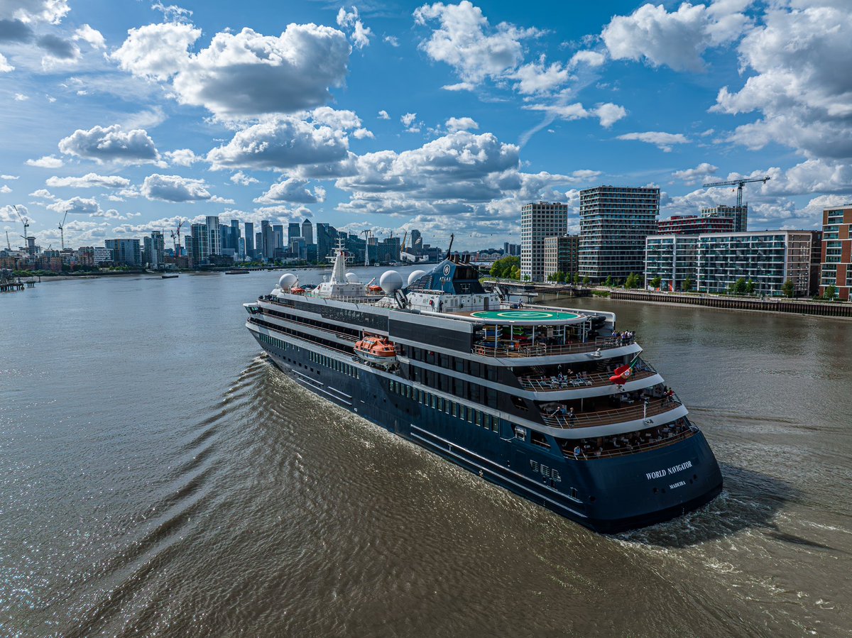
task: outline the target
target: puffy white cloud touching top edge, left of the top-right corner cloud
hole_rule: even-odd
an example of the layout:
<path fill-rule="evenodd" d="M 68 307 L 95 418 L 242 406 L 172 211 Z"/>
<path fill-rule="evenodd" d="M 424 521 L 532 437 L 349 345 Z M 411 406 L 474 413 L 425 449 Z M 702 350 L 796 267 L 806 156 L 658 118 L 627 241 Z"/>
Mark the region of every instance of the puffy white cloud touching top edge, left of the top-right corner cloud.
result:
<path fill-rule="evenodd" d="M 616 15 L 601 37 L 613 60 L 646 60 L 675 71 L 701 71 L 706 49 L 732 43 L 751 20 L 743 9 L 751 0 L 692 5 L 669 12 L 663 4 L 643 4 L 630 15 Z"/>

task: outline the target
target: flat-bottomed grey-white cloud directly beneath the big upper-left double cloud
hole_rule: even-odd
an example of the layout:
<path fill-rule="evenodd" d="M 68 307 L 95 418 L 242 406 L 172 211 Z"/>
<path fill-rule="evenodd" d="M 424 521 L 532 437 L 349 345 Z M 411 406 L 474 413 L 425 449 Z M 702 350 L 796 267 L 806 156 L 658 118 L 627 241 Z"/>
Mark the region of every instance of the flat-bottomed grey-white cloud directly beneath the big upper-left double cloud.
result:
<path fill-rule="evenodd" d="M 207 153 L 207 161 L 214 169 L 285 169 L 338 162 L 347 153 L 344 131 L 279 116 L 239 130 L 227 144 Z"/>

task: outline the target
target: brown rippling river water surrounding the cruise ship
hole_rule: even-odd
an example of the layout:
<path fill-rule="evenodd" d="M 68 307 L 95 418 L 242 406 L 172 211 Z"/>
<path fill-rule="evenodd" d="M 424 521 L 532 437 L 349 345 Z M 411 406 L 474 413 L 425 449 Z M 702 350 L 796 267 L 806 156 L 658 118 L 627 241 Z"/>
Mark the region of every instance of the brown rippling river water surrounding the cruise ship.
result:
<path fill-rule="evenodd" d="M 277 274 L 0 296 L 0 635 L 849 635 L 852 323 L 568 303 L 636 330 L 725 479 L 605 537 L 276 371 L 241 304 Z"/>

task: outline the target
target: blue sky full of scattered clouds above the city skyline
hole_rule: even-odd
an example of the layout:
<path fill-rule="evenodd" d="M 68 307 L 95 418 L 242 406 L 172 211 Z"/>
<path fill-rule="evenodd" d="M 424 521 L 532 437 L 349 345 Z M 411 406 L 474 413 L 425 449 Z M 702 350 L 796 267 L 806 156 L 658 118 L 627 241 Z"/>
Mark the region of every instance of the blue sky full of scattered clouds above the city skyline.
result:
<path fill-rule="evenodd" d="M 852 191 L 849 0 L 0 2 L 0 229 L 46 248 L 308 216 L 461 248 L 661 187 L 816 228 Z M 23 209 L 22 209 L 23 210 Z M 13 242 L 14 245 L 14 242 Z"/>

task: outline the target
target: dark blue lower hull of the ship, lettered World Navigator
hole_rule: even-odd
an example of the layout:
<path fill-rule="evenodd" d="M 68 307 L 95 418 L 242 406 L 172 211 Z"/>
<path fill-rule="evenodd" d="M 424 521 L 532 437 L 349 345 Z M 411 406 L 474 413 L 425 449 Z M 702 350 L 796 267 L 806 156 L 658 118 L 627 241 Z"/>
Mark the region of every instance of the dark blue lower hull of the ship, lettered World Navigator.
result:
<path fill-rule="evenodd" d="M 361 363 L 324 365 L 308 349 L 259 342 L 305 388 L 596 532 L 670 520 L 722 491 L 722 474 L 700 432 L 653 451 L 577 461 L 516 439 L 508 420 L 480 424 L 394 392 L 389 376 Z"/>

